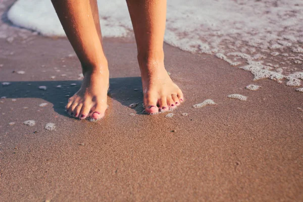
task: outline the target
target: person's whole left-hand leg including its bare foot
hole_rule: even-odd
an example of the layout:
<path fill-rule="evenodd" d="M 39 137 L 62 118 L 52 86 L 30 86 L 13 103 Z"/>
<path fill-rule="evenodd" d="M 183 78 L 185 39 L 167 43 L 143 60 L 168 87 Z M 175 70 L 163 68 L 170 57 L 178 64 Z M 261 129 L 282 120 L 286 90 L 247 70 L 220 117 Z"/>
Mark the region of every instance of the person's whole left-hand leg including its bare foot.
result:
<path fill-rule="evenodd" d="M 109 70 L 102 47 L 97 2 L 52 0 L 52 3 L 84 75 L 81 88 L 69 98 L 66 109 L 80 119 L 100 119 L 107 109 Z"/>

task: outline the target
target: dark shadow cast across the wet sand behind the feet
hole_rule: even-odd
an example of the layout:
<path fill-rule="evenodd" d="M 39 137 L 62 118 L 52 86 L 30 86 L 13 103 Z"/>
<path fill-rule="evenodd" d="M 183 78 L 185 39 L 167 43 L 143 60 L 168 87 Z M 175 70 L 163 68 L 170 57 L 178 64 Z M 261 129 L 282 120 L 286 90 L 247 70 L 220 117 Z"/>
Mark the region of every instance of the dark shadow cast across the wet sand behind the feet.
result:
<path fill-rule="evenodd" d="M 71 81 L 0 81 L 10 82 L 10 85 L 0 85 L 0 97 L 7 98 L 41 98 L 54 105 L 54 111 L 68 116 L 65 104 L 81 85 L 79 80 Z M 72 85 L 71 85 L 72 84 Z M 74 85 L 76 84 L 76 85 Z M 46 90 L 39 89 L 46 86 Z M 142 84 L 141 77 L 111 78 L 108 96 L 124 106 L 139 103 L 135 108 L 137 114 L 142 114 Z M 64 104 L 64 105 L 63 105 Z"/>

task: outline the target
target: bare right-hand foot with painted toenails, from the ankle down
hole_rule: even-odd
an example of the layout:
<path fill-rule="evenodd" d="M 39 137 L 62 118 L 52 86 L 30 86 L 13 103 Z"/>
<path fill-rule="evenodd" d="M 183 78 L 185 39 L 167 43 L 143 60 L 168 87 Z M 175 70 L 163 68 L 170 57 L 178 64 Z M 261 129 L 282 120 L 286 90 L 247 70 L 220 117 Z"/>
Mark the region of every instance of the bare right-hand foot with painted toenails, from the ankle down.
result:
<path fill-rule="evenodd" d="M 164 62 L 139 62 L 145 112 L 157 114 L 174 109 L 184 101 L 180 88 L 171 80 Z"/>

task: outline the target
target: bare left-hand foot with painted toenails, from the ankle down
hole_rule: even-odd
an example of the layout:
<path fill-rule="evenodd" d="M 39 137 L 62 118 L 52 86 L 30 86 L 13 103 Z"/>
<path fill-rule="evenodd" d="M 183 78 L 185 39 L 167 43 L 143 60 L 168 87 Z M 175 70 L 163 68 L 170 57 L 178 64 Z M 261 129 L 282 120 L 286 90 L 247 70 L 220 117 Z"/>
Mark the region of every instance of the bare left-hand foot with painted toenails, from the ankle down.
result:
<path fill-rule="evenodd" d="M 83 73 L 81 88 L 69 98 L 66 110 L 71 116 L 91 121 L 101 119 L 107 109 L 109 70 L 99 68 Z"/>

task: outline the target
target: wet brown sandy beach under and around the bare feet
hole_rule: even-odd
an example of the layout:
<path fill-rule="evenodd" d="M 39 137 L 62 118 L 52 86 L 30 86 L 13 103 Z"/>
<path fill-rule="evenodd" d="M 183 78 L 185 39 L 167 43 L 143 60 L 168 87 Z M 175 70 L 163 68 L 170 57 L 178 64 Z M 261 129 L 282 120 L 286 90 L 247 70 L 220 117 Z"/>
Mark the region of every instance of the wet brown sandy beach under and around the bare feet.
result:
<path fill-rule="evenodd" d="M 134 39 L 105 38 L 109 109 L 99 122 L 79 121 L 64 109 L 81 83 L 69 41 L 3 21 L 18 36 L 0 38 L 0 81 L 10 83 L 0 85 L 0 201 L 303 200 L 297 86 L 253 81 L 215 56 L 165 44 L 166 68 L 186 100 L 145 115 Z M 235 93 L 247 100 L 227 97 Z M 206 99 L 216 105 L 192 107 Z"/>

